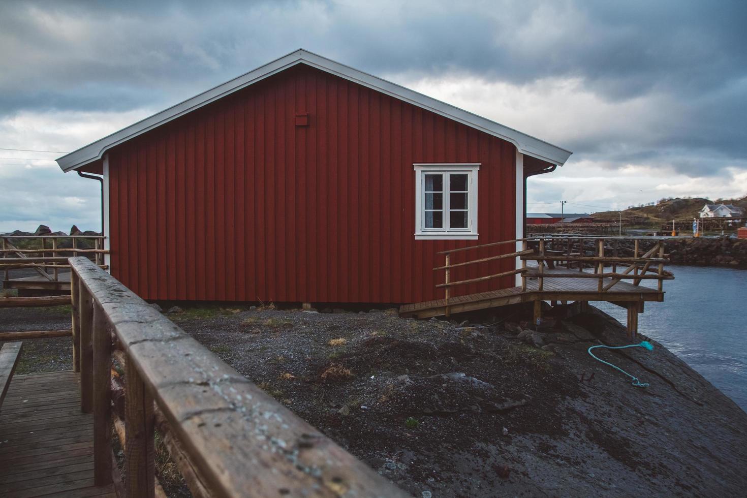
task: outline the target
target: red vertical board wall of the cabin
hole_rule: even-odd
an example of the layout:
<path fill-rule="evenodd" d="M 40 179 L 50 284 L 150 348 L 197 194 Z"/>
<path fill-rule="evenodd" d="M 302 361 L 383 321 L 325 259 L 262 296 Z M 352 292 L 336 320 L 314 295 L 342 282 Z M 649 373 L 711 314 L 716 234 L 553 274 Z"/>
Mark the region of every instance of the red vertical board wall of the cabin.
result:
<path fill-rule="evenodd" d="M 297 113 L 309 113 L 308 126 L 295 125 Z M 436 252 L 514 237 L 511 143 L 303 64 L 108 155 L 112 273 L 145 299 L 439 299 Z M 412 164 L 450 162 L 482 164 L 480 239 L 415 240 Z M 473 265 L 452 278 L 513 264 Z"/>

